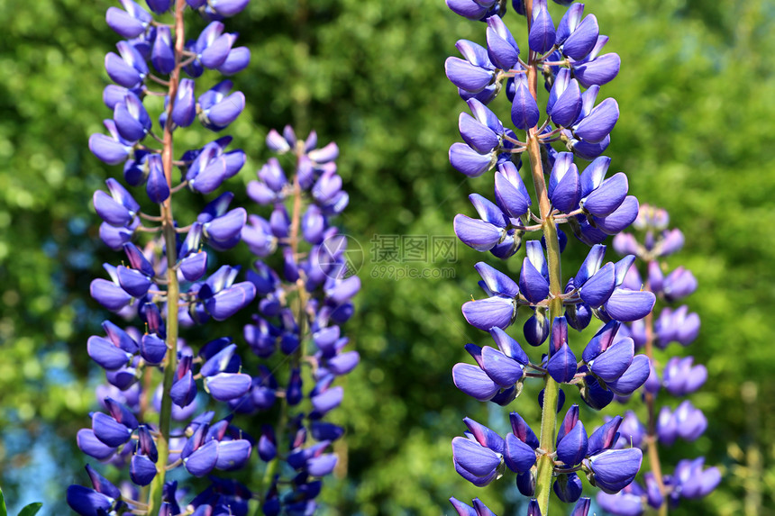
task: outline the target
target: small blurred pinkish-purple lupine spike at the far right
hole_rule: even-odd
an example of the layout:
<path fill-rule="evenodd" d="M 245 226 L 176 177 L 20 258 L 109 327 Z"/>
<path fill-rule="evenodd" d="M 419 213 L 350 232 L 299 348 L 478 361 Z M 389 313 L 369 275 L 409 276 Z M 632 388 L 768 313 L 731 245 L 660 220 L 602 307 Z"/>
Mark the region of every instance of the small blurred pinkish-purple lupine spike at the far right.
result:
<path fill-rule="evenodd" d="M 677 229 L 667 230 L 670 219 L 662 209 L 643 205 L 634 223 L 634 228 L 643 234 L 638 241 L 632 233 L 621 233 L 614 240 L 615 249 L 622 253 L 633 253 L 643 263 L 644 276 L 633 267 L 625 278 L 629 285 L 641 285 L 656 294 L 665 304 L 675 303 L 692 294 L 697 280 L 684 267 L 677 267 L 665 275 L 663 258 L 678 251 L 683 245 L 683 235 Z M 697 338 L 699 318 L 682 305 L 673 310 L 664 306 L 654 319 L 652 314 L 643 320 L 633 321 L 623 330 L 632 335 L 638 349 L 644 349 L 652 358 L 651 374 L 643 385 L 643 401 L 648 421 L 643 424 L 634 412 L 625 414 L 620 427 L 620 443 L 631 443 L 649 454 L 651 471 L 643 475 L 643 483 L 634 482 L 620 493 L 599 493 L 597 502 L 606 511 L 622 516 L 638 516 L 648 507 L 662 509 L 675 506 L 681 498 L 700 498 L 710 493 L 721 481 L 716 467 L 705 468 L 705 458 L 682 459 L 675 466 L 672 475 L 662 472 L 659 446 L 669 447 L 676 439 L 692 441 L 707 428 L 705 415 L 688 400 L 671 410 L 663 404 L 657 413 L 657 397 L 662 389 L 671 396 L 681 397 L 697 391 L 707 380 L 707 369 L 695 364 L 691 356 L 672 357 L 658 371 L 659 362 L 654 359 L 656 349 L 666 349 L 670 342 L 688 346 Z"/>

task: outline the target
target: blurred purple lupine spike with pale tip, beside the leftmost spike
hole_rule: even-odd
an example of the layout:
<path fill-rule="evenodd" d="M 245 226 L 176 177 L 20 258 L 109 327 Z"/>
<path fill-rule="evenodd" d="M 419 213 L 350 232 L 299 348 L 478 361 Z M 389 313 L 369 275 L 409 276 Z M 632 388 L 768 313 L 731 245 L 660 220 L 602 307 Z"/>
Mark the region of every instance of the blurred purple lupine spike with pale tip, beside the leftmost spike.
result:
<path fill-rule="evenodd" d="M 265 426 L 259 440 L 259 457 L 267 463 L 263 513 L 312 514 L 320 477 L 337 464 L 328 449 L 344 431 L 324 421 L 342 403 L 342 386 L 333 382 L 360 362 L 358 351 L 345 350 L 349 339 L 341 330 L 352 315 L 360 279 L 347 259 L 347 237 L 330 223 L 349 200 L 333 161 L 336 144 L 316 149 L 315 132 L 298 140 L 290 127 L 282 135 L 270 131 L 267 144 L 296 160 L 290 179 L 277 158 L 260 168 L 248 195 L 272 211 L 269 220 L 250 215 L 242 229 L 242 240 L 255 255 L 266 259 L 277 251 L 281 256 L 281 274 L 264 259 L 248 273 L 260 302 L 243 335 L 270 367 L 262 366 L 251 392 L 233 405 L 240 412 L 281 405 L 277 426 Z M 278 378 L 283 369 L 284 384 Z"/>

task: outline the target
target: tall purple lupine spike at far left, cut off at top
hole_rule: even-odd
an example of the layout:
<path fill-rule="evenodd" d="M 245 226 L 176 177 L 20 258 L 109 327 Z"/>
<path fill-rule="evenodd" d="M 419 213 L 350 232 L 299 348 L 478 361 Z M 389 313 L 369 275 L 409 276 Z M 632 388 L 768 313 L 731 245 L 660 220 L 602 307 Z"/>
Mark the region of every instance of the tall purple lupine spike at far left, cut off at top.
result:
<path fill-rule="evenodd" d="M 242 370 L 231 338 L 202 342 L 201 330 L 187 340 L 180 336 L 182 329 L 229 319 L 256 297 L 254 283 L 238 281 L 240 267 L 212 267 L 213 251 L 241 240 L 247 212 L 230 209 L 233 195 L 227 192 L 205 204 L 194 221 L 173 215 L 173 198 L 185 191 L 214 193 L 245 162 L 242 150 L 226 150 L 228 136 L 185 152 L 173 141 L 197 119 L 217 132 L 242 112 L 244 95 L 230 93 L 231 81 L 196 96 L 197 87 L 206 86 L 195 79 L 205 69 L 231 75 L 248 65 L 249 50 L 234 47 L 236 34 L 223 32 L 220 21 L 247 3 L 148 0 L 149 11 L 122 0 L 122 8 L 107 10 L 108 25 L 125 40 L 117 44 L 118 54 L 105 57 L 114 82 L 104 94 L 113 111 L 105 120 L 109 135 L 92 135 L 89 148 L 107 164 L 123 164 L 124 181 L 134 190 L 111 178 L 107 192 L 94 195 L 103 220 L 100 237 L 126 258 L 121 265 L 105 264 L 108 279 L 95 279 L 91 294 L 142 330 L 105 321 L 104 334 L 88 339 L 88 354 L 105 369 L 107 385 L 97 390 L 101 410 L 92 413 L 90 428 L 78 431 L 78 447 L 96 460 L 128 466 L 131 483 L 116 487 L 87 466 L 92 486 L 68 488 L 68 504 L 78 514 L 248 511 L 251 492 L 215 474 L 240 469 L 251 457 L 256 440 L 232 424 L 229 407 L 260 376 Z M 190 41 L 187 11 L 210 21 Z M 174 470 L 208 476 L 211 483 L 198 494 L 178 489 L 167 476 Z M 183 503 L 189 494 L 196 496 Z"/>

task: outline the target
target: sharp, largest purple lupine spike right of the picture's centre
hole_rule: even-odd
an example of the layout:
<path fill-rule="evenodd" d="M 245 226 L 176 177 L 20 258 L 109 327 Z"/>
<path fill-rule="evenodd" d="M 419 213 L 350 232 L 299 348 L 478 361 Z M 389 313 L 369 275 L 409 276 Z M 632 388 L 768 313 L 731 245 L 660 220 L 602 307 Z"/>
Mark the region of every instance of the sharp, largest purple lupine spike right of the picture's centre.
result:
<path fill-rule="evenodd" d="M 608 39 L 599 33 L 594 14 L 584 16 L 584 5 L 556 3 L 570 5 L 557 25 L 546 0 L 513 3 L 527 22 L 527 45 L 520 49 L 502 18 L 505 2 L 447 0 L 456 14 L 486 23 L 485 46 L 460 40 L 462 59 L 446 61 L 446 75 L 471 113 L 460 114 L 463 141 L 451 145 L 450 162 L 468 177 L 495 169 L 492 200 L 470 195 L 477 216 L 458 214 L 454 231 L 472 249 L 497 258 L 525 250 L 518 278 L 477 264 L 486 297 L 472 297 L 462 312 L 471 326 L 489 332 L 497 348 L 468 344 L 474 364 L 453 367 L 453 381 L 463 393 L 503 406 L 522 392 L 525 379 L 544 385 L 540 436 L 517 412 L 511 412 L 513 433 L 506 437 L 466 419 L 467 437 L 453 439 L 452 452 L 456 470 L 472 484 L 488 484 L 506 470 L 515 473 L 519 490 L 534 497 L 530 514 L 548 513 L 552 489 L 563 502 L 577 502 L 574 514 L 586 514 L 589 500 L 580 497 L 578 472 L 603 492 L 617 493 L 634 480 L 643 453 L 615 448 L 623 421 L 618 416 L 588 435 L 576 404 L 555 432 L 565 400 L 561 386 L 575 386 L 581 400 L 597 410 L 643 385 L 650 359 L 635 354 L 635 337 L 623 329 L 625 322 L 651 313 L 655 295 L 627 281 L 634 256 L 604 264 L 602 242 L 639 213 L 637 199 L 628 195 L 627 177 L 609 175 L 611 160 L 602 156 L 619 109 L 614 99 L 597 103 L 597 98 L 600 87 L 618 73 L 620 60 L 602 53 Z M 541 107 L 539 77 L 549 93 Z M 495 106 L 502 91 L 511 127 Z M 579 160 L 590 162 L 583 166 Z M 533 197 L 524 177 L 533 183 Z M 575 276 L 564 279 L 561 252 L 568 239 L 561 224 L 591 248 Z M 539 232 L 540 239 L 527 240 L 531 232 Z M 682 288 L 678 278 L 675 284 L 677 291 Z M 506 332 L 520 307 L 531 311 L 524 342 L 548 348 L 540 359 L 530 358 Z M 593 317 L 602 325 L 574 352 L 569 327 L 583 330 Z M 452 504 L 460 514 L 490 513 L 479 500 L 473 508 L 455 499 Z"/>

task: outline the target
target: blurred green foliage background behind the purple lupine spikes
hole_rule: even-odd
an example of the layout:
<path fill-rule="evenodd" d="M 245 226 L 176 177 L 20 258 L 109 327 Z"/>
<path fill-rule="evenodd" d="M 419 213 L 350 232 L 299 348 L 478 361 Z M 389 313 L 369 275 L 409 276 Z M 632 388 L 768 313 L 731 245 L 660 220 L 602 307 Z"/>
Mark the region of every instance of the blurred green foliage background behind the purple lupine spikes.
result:
<path fill-rule="evenodd" d="M 101 381 L 86 341 L 107 315 L 88 285 L 104 261 L 118 259 L 98 241 L 90 203 L 120 170 L 87 149 L 110 117 L 103 59 L 119 38 L 105 25 L 109 5 L 0 0 L 0 485 L 14 514 L 33 501 L 45 503 L 41 514 L 67 514 L 66 487 L 86 480 L 75 435 Z M 623 63 L 601 92 L 621 109 L 607 155 L 642 202 L 670 211 L 687 240 L 670 264 L 686 265 L 699 282 L 687 303 L 702 319 L 700 337 L 670 353 L 707 365 L 693 402 L 709 428 L 693 443 L 679 441 L 665 461 L 705 455 L 724 481 L 675 513 L 773 514 L 775 3 L 642 0 L 589 2 L 587 10 Z M 514 14 L 507 23 L 524 41 Z M 450 237 L 452 217 L 471 212 L 467 195 L 490 187 L 448 164 L 465 106 L 443 74 L 454 42 L 483 41 L 483 25 L 441 0 L 256 0 L 227 27 L 253 53 L 235 78 L 248 107 L 232 129 L 249 162 L 229 186 L 245 199 L 269 156 L 270 128 L 314 128 L 342 150 L 351 204 L 341 225 L 364 251 L 357 315 L 347 324 L 362 362 L 333 415 L 348 429 L 337 449 L 345 467 L 326 481 L 323 513 L 450 514 L 450 495 L 479 495 L 514 514 L 514 485 L 479 490 L 451 466 L 450 440 L 464 415 L 506 424 L 502 411 L 451 383 L 463 345 L 486 341 L 460 314 L 479 295 L 472 266 L 482 255 L 459 244 L 451 262 L 374 259 L 382 236 Z M 572 269 L 581 257 L 566 259 Z M 245 249 L 233 254 L 238 260 L 249 263 Z M 452 277 L 396 279 L 386 265 Z M 231 324 L 219 331 L 239 338 L 241 321 Z M 523 396 L 513 407 L 537 415 L 535 391 Z"/>

